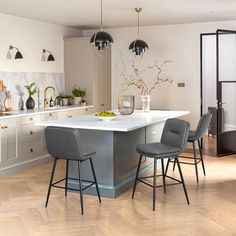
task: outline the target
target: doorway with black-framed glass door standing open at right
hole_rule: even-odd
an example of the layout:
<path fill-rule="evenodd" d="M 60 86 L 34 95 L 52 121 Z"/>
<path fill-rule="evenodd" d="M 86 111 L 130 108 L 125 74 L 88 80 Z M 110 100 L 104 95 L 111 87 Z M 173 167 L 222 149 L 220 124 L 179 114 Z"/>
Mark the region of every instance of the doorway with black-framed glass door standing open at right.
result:
<path fill-rule="evenodd" d="M 201 115 L 212 113 L 206 154 L 236 153 L 236 31 L 200 35 Z"/>

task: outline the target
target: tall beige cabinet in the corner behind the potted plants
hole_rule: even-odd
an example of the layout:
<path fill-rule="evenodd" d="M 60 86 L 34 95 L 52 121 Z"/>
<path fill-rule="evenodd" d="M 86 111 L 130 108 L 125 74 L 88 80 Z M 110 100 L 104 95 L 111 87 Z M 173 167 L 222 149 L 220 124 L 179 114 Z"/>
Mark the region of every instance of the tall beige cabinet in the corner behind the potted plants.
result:
<path fill-rule="evenodd" d="M 88 105 L 95 112 L 111 109 L 111 50 L 101 57 L 90 39 L 64 39 L 65 91 L 71 94 L 74 86 L 86 89 Z"/>

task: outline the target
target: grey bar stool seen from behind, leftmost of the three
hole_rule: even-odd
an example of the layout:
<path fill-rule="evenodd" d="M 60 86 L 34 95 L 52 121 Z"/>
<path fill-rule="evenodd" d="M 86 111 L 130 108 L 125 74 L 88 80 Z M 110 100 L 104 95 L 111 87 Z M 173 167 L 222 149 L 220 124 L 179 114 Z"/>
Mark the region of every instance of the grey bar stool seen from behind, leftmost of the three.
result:
<path fill-rule="evenodd" d="M 96 152 L 94 150 L 81 147 L 80 136 L 79 136 L 77 129 L 60 128 L 60 127 L 47 127 L 45 129 L 45 135 L 46 135 L 48 153 L 54 158 L 54 163 L 53 163 L 53 168 L 52 168 L 52 173 L 51 173 L 51 179 L 49 182 L 48 194 L 47 194 L 45 207 L 47 207 L 47 205 L 48 205 L 51 187 L 65 189 L 65 196 L 67 196 L 68 189 L 73 190 L 73 191 L 79 191 L 80 192 L 81 213 L 83 215 L 83 213 L 84 213 L 83 190 L 85 190 L 88 187 L 95 184 L 98 199 L 99 199 L 99 202 L 101 203 L 97 179 L 96 179 L 96 175 L 95 175 L 95 171 L 94 171 L 94 167 L 93 167 L 93 161 L 92 161 L 92 157 L 95 155 Z M 54 176 L 54 172 L 56 169 L 57 161 L 59 159 L 66 160 L 66 176 L 65 176 L 65 178 L 53 183 L 53 176 Z M 82 180 L 81 163 L 86 160 L 90 161 L 94 181 Z M 68 177 L 69 161 L 78 162 L 79 179 Z M 78 180 L 79 181 L 79 189 L 68 188 L 68 180 L 69 179 Z M 65 187 L 61 187 L 61 186 L 56 185 L 62 181 L 65 181 Z M 89 184 L 83 188 L 82 181 L 85 181 L 86 183 L 89 183 Z"/>

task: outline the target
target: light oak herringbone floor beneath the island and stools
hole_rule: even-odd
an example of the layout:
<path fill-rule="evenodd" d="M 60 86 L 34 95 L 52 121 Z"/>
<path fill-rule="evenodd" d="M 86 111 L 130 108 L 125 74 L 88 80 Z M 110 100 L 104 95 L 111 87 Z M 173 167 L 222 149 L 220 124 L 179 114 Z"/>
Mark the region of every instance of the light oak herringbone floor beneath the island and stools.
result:
<path fill-rule="evenodd" d="M 152 190 L 139 184 L 135 199 L 131 190 L 116 199 L 85 196 L 80 214 L 79 195 L 52 189 L 44 207 L 51 163 L 0 179 L 0 235 L 236 235 L 236 156 L 206 157 L 207 176 L 199 168 L 196 183 L 193 166 L 182 165 L 190 205 L 181 185 L 157 189 L 152 211 Z M 59 162 L 57 177 L 64 175 Z M 178 176 L 177 171 L 170 175 Z"/>

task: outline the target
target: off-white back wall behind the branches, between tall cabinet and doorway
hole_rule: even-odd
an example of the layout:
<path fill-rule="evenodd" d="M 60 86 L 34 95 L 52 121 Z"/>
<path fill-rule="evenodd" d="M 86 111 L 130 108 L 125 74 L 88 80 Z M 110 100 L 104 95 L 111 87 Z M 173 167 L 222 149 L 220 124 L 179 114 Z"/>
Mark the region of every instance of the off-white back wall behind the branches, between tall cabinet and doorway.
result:
<path fill-rule="evenodd" d="M 189 110 L 190 115 L 186 118 L 191 121 L 192 128 L 196 126 L 200 117 L 200 33 L 215 32 L 218 28 L 236 29 L 236 21 L 150 26 L 142 27 L 140 30 L 140 38 L 148 42 L 150 47 L 144 55 L 143 64 L 148 64 L 154 59 L 172 60 L 172 63 L 168 65 L 167 73 L 174 80 L 174 84 L 167 88 L 157 88 L 151 96 L 151 106 Z M 115 108 L 122 84 L 116 65 L 120 65 L 120 51 L 125 58 L 134 58 L 128 47 L 137 37 L 137 29 L 124 28 L 106 31 L 114 39 L 112 46 L 112 106 Z M 84 31 L 84 36 L 91 36 L 92 33 L 93 31 Z M 186 87 L 177 87 L 177 82 L 185 82 Z M 138 96 L 136 103 L 137 106 L 140 106 Z"/>

